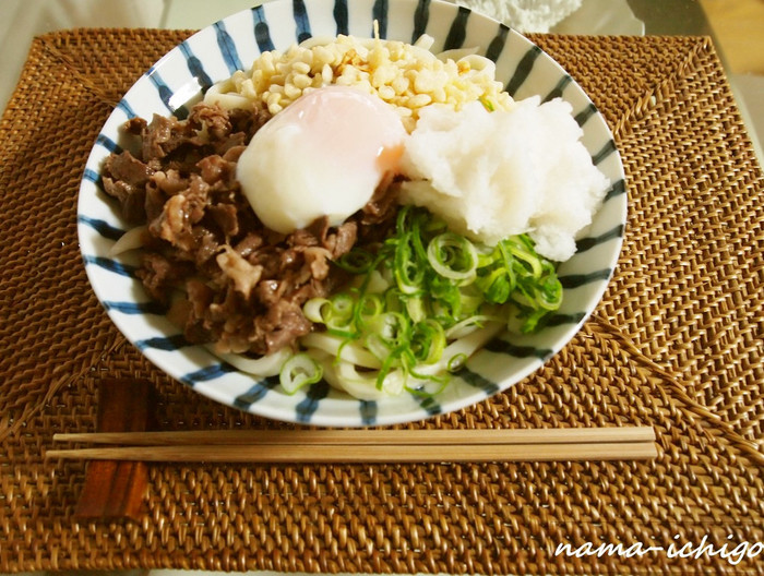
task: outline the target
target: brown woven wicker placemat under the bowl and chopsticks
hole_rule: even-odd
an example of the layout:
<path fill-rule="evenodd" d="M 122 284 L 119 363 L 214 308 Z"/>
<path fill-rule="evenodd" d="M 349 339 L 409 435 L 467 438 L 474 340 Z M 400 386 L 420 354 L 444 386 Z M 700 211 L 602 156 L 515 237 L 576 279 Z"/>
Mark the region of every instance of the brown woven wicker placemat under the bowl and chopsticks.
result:
<path fill-rule="evenodd" d="M 277 427 L 192 394 L 127 344 L 91 293 L 76 191 L 114 103 L 183 32 L 35 40 L 0 122 L 0 571 L 186 567 L 317 573 L 756 573 L 762 555 L 566 557 L 558 544 L 764 541 L 762 220 L 756 165 L 705 38 L 537 36 L 593 95 L 629 181 L 612 285 L 525 382 L 411 424 L 650 424 L 649 463 L 153 466 L 141 521 L 77 523 L 99 377 L 146 379 L 167 429 Z"/>

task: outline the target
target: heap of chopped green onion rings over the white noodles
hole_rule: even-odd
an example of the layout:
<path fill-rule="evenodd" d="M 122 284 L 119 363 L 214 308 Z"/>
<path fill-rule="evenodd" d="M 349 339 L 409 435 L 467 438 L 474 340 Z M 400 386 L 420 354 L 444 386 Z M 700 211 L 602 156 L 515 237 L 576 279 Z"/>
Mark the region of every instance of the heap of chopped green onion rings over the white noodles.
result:
<path fill-rule="evenodd" d="M 306 316 L 325 329 L 303 343 L 324 355 L 327 381 L 358 397 L 440 391 L 500 329 L 516 321 L 536 331 L 562 302 L 554 265 L 529 237 L 475 243 L 410 205 L 375 254 L 354 250 L 338 265 L 356 278 L 306 303 Z"/>

